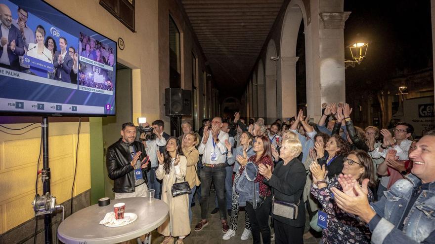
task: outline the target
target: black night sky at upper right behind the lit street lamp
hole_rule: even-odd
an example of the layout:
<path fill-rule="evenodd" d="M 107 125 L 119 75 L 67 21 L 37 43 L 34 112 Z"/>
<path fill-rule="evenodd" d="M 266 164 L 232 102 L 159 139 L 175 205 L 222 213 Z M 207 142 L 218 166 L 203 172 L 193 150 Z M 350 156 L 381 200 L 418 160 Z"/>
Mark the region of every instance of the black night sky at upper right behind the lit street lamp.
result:
<path fill-rule="evenodd" d="M 373 87 L 404 70 L 432 67 L 430 0 L 345 0 L 344 10 L 352 12 L 345 46 L 357 36 L 370 43 L 361 65 L 346 70 L 347 87 Z"/>

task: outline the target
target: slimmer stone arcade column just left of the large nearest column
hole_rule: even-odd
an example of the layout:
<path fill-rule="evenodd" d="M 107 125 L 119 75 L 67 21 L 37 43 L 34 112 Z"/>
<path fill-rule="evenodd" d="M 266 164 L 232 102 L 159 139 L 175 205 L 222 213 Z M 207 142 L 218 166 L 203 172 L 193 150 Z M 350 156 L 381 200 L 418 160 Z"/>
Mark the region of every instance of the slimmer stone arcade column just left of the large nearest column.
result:
<path fill-rule="evenodd" d="M 278 115 L 296 116 L 296 62 L 299 57 L 281 57 L 281 81 L 278 84 Z"/>

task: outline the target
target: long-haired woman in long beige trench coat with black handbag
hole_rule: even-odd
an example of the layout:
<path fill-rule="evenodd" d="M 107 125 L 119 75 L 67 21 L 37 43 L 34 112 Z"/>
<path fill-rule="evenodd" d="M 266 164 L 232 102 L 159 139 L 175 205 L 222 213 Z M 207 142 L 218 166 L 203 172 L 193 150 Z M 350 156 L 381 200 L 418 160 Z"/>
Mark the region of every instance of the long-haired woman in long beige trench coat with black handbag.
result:
<path fill-rule="evenodd" d="M 181 142 L 174 137 L 167 140 L 166 151 L 162 154 L 157 152 L 159 168 L 156 177 L 163 180 L 162 201 L 169 206 L 169 219 L 167 219 L 157 231 L 165 236 L 162 244 L 174 244 L 174 238 L 178 237 L 177 244 L 182 244 L 184 237 L 190 233 L 188 195 L 172 197 L 172 185 L 175 181 L 183 182 L 186 175 L 187 159 L 183 156 Z"/>

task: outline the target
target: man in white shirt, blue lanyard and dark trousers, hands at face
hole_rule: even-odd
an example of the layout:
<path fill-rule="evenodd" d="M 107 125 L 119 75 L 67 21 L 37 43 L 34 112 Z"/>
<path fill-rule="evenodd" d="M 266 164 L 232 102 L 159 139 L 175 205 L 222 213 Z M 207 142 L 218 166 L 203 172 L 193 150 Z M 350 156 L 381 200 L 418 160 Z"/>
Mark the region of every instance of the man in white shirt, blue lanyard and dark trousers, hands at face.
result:
<path fill-rule="evenodd" d="M 225 177 L 226 177 L 226 147 L 225 140 L 228 140 L 228 133 L 221 131 L 222 118 L 215 117 L 212 120 L 212 129 L 204 128 L 204 136 L 198 147 L 202 156 L 203 169 L 201 169 L 201 221 L 195 226 L 195 231 L 200 231 L 208 224 L 208 202 L 212 181 L 215 185 L 217 202 L 219 205 L 220 220 L 222 231 L 228 231 L 229 226 L 226 221 L 226 202 L 225 202 Z"/>

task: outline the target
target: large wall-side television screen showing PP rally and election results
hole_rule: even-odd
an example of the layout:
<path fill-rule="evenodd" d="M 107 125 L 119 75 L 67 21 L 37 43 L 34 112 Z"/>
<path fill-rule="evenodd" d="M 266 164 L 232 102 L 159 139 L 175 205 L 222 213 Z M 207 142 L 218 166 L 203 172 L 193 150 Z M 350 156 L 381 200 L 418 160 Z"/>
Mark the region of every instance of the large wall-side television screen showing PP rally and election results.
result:
<path fill-rule="evenodd" d="M 115 41 L 42 0 L 0 0 L 0 20 L 1 114 L 115 114 Z"/>

